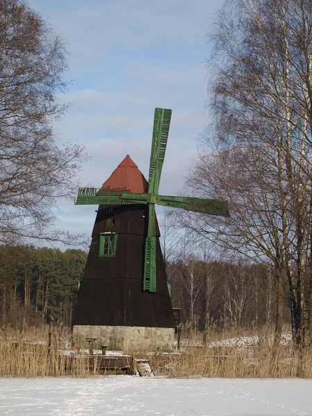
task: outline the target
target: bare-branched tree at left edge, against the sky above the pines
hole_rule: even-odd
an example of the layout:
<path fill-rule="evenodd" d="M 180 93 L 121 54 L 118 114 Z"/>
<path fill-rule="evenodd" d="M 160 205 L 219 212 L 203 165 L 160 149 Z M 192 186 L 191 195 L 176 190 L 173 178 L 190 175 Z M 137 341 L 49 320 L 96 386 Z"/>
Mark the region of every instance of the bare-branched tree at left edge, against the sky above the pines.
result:
<path fill-rule="evenodd" d="M 0 241 L 68 241 L 51 231 L 58 198 L 72 196 L 83 148 L 58 144 L 52 123 L 67 109 L 66 48 L 23 0 L 0 0 Z"/>

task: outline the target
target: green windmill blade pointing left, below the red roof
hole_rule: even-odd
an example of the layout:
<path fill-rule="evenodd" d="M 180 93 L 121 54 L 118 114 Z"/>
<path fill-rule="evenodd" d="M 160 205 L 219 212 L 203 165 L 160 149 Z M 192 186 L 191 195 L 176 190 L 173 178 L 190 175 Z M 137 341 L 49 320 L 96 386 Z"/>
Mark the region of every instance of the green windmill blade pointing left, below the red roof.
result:
<path fill-rule="evenodd" d="M 146 204 L 147 193 L 130 193 L 118 189 L 79 188 L 75 205 Z"/>

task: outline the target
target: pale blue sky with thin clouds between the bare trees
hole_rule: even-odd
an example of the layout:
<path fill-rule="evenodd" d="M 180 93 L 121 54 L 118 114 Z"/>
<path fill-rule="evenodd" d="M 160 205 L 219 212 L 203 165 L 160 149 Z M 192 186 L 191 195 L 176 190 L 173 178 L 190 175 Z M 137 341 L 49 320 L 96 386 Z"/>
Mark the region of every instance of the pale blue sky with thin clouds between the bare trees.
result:
<path fill-rule="evenodd" d="M 28 3 L 68 44 L 71 107 L 54 128 L 61 142 L 86 147 L 79 184 L 101 187 L 127 154 L 148 177 L 154 109 L 164 107 L 173 114 L 159 193 L 182 194 L 209 123 L 207 31 L 223 0 Z M 61 202 L 58 227 L 91 235 L 94 209 Z"/>

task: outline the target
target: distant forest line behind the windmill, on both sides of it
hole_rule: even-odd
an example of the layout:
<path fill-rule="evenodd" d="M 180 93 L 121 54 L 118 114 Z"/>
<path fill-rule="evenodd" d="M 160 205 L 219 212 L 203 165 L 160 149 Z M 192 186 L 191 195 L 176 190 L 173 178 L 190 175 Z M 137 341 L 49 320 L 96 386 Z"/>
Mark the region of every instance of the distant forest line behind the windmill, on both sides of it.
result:
<path fill-rule="evenodd" d="M 171 255 L 166 272 L 173 307 L 190 329 L 259 327 L 275 317 L 272 275 L 265 266 Z M 0 324 L 71 326 L 87 253 L 0 246 Z M 285 303 L 287 315 L 287 304 Z M 288 314 L 289 315 L 289 314 Z"/>

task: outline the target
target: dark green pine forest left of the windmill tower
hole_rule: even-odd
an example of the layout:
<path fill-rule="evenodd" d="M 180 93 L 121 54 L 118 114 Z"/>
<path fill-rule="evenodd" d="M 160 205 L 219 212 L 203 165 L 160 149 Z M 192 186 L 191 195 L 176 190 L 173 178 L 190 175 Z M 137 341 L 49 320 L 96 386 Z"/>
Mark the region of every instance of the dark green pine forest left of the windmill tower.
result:
<path fill-rule="evenodd" d="M 21 327 L 71 325 L 87 253 L 79 249 L 0 246 L 0 322 Z"/>

